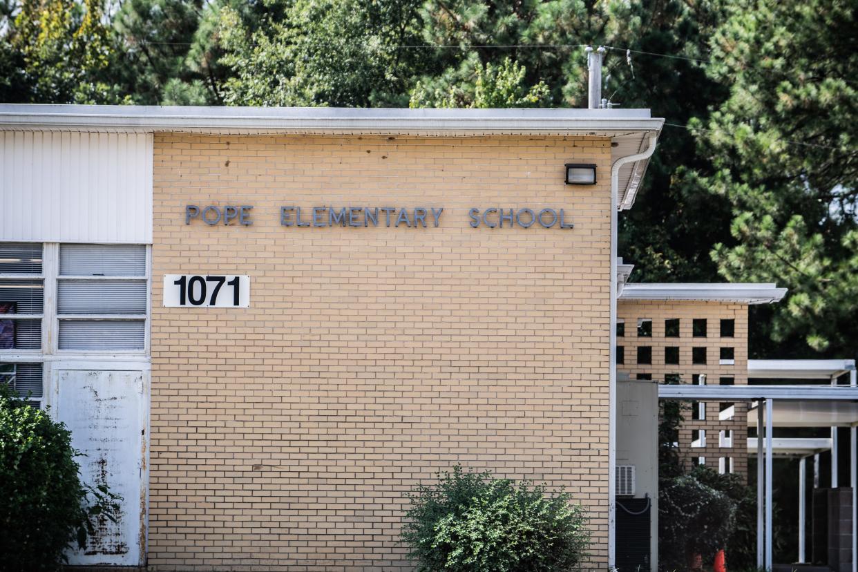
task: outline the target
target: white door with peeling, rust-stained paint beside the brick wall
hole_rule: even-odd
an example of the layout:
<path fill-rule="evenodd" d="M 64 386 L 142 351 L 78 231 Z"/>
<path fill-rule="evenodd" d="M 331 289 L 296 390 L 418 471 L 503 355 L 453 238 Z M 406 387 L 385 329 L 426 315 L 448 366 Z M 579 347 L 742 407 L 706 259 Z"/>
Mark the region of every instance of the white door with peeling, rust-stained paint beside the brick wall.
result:
<path fill-rule="evenodd" d="M 84 482 L 108 485 L 123 497 L 118 522 L 100 519 L 83 550 L 69 551 L 77 565 L 142 564 L 146 505 L 144 384 L 142 371 L 81 370 L 57 364 L 56 414 L 71 431 Z"/>

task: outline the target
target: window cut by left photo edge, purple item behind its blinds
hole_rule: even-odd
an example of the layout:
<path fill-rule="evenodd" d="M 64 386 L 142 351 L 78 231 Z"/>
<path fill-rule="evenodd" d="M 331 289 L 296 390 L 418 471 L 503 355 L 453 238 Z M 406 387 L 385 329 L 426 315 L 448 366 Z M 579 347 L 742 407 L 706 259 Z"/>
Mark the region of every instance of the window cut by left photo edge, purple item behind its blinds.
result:
<path fill-rule="evenodd" d="M 42 346 L 42 245 L 0 243 L 0 353 Z"/>

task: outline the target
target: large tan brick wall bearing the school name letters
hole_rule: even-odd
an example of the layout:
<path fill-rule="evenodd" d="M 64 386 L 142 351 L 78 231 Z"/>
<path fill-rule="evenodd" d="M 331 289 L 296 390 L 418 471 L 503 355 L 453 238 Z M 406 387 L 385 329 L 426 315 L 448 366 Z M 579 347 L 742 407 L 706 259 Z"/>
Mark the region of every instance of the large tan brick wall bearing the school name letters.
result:
<path fill-rule="evenodd" d="M 150 569 L 408 569 L 402 494 L 456 463 L 565 485 L 606 564 L 609 171 L 597 137 L 156 135 Z M 254 224 L 185 226 L 189 203 Z M 286 205 L 444 214 L 284 228 Z M 161 307 L 195 273 L 249 274 L 251 307 Z"/>

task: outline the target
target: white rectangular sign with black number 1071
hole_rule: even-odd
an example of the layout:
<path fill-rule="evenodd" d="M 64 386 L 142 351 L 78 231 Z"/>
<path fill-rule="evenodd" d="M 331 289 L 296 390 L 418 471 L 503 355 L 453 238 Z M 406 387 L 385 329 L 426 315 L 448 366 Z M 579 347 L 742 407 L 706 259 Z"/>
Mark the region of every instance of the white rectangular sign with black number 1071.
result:
<path fill-rule="evenodd" d="M 167 308 L 247 308 L 251 277 L 236 274 L 164 274 Z"/>

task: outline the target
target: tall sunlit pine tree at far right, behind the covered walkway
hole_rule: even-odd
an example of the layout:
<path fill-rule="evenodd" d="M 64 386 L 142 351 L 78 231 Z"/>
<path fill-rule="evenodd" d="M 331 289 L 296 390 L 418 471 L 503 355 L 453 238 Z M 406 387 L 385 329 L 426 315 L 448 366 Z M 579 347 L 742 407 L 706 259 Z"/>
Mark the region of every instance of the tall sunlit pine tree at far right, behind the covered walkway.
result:
<path fill-rule="evenodd" d="M 733 211 L 713 260 L 728 280 L 776 281 L 770 354 L 855 354 L 858 327 L 858 73 L 855 3 L 729 3 L 710 77 L 729 98 L 696 119 L 701 177 Z"/>

